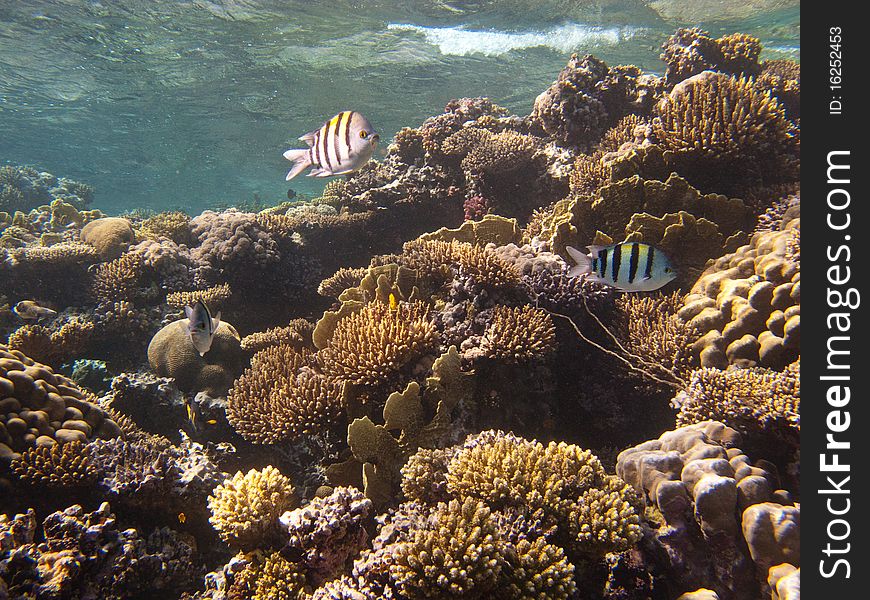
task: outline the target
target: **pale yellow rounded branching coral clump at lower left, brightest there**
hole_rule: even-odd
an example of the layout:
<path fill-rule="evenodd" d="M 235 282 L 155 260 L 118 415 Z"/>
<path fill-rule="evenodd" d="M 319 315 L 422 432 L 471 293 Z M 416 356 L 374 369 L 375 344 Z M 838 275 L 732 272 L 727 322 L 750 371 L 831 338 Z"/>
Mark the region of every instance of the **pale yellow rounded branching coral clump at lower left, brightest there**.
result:
<path fill-rule="evenodd" d="M 225 542 L 242 549 L 267 545 L 278 517 L 298 506 L 293 485 L 278 469 L 239 471 L 208 497 L 209 522 Z"/>

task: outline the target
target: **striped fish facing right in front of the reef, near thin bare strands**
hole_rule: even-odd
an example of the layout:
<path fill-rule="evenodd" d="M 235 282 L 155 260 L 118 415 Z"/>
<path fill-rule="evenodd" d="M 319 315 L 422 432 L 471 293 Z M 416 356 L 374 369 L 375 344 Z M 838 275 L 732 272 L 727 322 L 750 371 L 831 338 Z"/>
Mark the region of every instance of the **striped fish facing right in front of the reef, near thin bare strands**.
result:
<path fill-rule="evenodd" d="M 623 242 L 611 246 L 589 246 L 589 254 L 576 248 L 565 248 L 577 263 L 569 277 L 587 275 L 621 292 L 651 292 L 677 276 L 671 261 L 660 250 L 639 242 Z"/>

